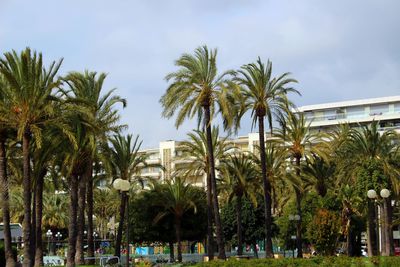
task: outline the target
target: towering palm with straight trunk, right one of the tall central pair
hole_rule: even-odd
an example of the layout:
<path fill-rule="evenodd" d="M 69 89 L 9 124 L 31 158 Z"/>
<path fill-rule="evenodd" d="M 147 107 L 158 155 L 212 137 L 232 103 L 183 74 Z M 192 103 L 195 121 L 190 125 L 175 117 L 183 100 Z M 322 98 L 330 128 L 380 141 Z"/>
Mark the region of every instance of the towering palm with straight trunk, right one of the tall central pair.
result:
<path fill-rule="evenodd" d="M 261 171 L 264 187 L 265 202 L 265 235 L 266 257 L 273 257 L 272 251 L 272 214 L 271 214 L 271 181 L 267 177 L 266 155 L 265 155 L 265 130 L 264 119 L 267 118 L 271 132 L 274 116 L 280 116 L 286 106 L 290 105 L 287 99 L 288 93 L 298 93 L 291 87 L 292 83 L 297 83 L 295 79 L 289 77 L 290 73 L 284 73 L 278 77 L 272 77 L 272 63 L 265 65 L 260 58 L 256 63 L 243 65 L 238 70 L 234 81 L 241 87 L 240 106 L 243 115 L 251 110 L 253 124 L 258 123 L 259 146 Z M 239 119 L 240 120 L 240 119 Z"/>

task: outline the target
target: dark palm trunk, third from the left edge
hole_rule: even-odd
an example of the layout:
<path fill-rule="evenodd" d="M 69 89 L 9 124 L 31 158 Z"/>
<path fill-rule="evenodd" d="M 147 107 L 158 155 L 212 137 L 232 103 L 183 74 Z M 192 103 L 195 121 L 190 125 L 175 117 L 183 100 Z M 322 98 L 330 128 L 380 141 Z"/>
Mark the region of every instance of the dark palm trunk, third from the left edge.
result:
<path fill-rule="evenodd" d="M 35 266 L 43 266 L 43 239 L 42 239 L 42 215 L 43 215 L 43 184 L 44 177 L 47 173 L 43 168 L 36 181 L 35 205 L 36 205 L 36 249 L 35 249 Z"/>

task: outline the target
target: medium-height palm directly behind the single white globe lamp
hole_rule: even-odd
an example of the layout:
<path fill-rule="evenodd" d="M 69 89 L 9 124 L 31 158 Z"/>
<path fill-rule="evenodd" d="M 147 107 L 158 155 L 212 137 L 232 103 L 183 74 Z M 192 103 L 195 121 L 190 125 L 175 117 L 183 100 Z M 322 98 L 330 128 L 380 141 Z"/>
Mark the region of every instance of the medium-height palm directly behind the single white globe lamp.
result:
<path fill-rule="evenodd" d="M 149 166 L 146 163 L 147 155 L 139 153 L 142 142 L 139 136 L 133 138 L 128 134 L 114 135 L 110 139 L 111 147 L 106 152 L 108 160 L 107 165 L 113 180 L 120 178 L 133 183 L 144 184 L 145 178 L 140 176 L 140 171 Z M 119 207 L 120 223 L 118 225 L 117 238 L 115 241 L 115 256 L 121 255 L 122 230 L 125 219 L 125 207 L 128 200 L 126 192 L 121 192 L 121 202 Z"/>

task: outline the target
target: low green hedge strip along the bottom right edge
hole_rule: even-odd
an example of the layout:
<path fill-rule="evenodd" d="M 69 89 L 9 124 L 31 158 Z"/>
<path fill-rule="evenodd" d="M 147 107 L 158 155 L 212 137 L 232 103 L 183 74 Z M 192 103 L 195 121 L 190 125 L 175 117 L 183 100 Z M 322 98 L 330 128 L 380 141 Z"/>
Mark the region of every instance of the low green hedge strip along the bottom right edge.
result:
<path fill-rule="evenodd" d="M 311 259 L 252 259 L 227 261 L 215 260 L 199 263 L 198 267 L 398 267 L 400 257 L 372 257 L 372 258 L 350 258 L 350 257 L 315 257 Z"/>

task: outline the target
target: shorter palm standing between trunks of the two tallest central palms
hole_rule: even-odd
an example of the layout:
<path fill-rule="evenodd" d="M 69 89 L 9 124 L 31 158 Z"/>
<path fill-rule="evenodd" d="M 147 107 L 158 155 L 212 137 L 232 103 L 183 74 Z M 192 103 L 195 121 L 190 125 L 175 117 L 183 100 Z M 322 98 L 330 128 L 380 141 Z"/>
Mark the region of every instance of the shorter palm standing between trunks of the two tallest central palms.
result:
<path fill-rule="evenodd" d="M 236 198 L 236 223 L 238 236 L 238 255 L 243 254 L 242 199 L 247 197 L 257 206 L 257 178 L 259 172 L 252 157 L 244 153 L 233 154 L 222 162 L 222 191 L 228 201 Z"/>

